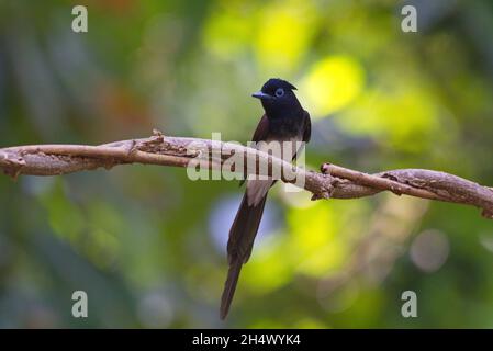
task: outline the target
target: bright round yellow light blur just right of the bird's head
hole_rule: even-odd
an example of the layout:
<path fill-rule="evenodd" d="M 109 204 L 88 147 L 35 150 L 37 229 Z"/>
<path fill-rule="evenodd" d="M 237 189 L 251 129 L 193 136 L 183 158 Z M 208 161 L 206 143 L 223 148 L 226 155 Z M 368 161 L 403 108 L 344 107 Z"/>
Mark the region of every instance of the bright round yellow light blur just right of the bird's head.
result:
<path fill-rule="evenodd" d="M 323 117 L 347 106 L 361 92 L 365 70 L 350 56 L 329 56 L 313 65 L 302 80 L 302 95 L 313 117 Z"/>

